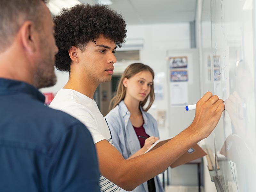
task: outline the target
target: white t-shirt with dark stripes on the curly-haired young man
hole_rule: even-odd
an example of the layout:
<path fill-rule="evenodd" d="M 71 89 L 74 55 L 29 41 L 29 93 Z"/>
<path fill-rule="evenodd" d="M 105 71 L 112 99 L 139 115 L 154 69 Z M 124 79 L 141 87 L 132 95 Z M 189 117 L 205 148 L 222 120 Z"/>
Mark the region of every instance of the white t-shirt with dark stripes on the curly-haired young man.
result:
<path fill-rule="evenodd" d="M 91 98 L 72 89 L 61 89 L 49 107 L 64 111 L 81 121 L 91 132 L 94 144 L 106 139 L 112 145 L 108 124 Z M 101 175 L 99 183 L 102 192 L 120 191 L 118 186 Z"/>

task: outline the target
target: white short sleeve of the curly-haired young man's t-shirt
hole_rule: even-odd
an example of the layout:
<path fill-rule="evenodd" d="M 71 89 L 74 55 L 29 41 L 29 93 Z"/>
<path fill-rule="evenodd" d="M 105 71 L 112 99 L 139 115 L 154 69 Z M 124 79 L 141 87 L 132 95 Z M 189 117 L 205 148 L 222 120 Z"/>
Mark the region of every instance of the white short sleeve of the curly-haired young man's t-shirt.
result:
<path fill-rule="evenodd" d="M 92 134 L 94 144 L 104 139 L 107 140 L 107 138 L 105 138 L 100 132 L 97 119 L 94 117 L 92 112 L 83 105 L 74 103 L 74 105 L 65 106 L 61 110 L 75 117 L 87 127 Z"/>

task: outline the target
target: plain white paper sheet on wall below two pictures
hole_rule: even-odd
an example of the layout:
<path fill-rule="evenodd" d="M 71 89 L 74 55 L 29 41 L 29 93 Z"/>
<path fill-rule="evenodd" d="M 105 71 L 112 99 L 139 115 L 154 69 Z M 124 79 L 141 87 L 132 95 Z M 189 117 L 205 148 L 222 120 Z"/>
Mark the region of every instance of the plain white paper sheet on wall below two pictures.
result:
<path fill-rule="evenodd" d="M 188 82 L 170 83 L 171 105 L 188 104 Z"/>

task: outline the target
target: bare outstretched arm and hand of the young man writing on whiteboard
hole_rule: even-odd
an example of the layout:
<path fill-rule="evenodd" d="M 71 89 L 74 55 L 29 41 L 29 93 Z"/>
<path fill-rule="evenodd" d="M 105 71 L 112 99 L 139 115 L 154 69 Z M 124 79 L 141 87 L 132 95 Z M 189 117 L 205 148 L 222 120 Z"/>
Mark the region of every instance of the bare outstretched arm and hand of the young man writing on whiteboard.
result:
<path fill-rule="evenodd" d="M 125 160 L 106 140 L 95 144 L 101 174 L 125 190 L 163 172 L 188 148 L 209 136 L 224 110 L 223 100 L 207 92 L 196 104 L 192 124 L 161 147 Z"/>

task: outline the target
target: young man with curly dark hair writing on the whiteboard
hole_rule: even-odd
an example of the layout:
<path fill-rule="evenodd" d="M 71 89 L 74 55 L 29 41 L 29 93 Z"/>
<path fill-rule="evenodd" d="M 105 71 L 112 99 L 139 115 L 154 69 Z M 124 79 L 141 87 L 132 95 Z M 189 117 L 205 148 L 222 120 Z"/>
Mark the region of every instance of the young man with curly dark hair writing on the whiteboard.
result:
<path fill-rule="evenodd" d="M 132 190 L 153 178 L 206 138 L 218 123 L 223 101 L 207 92 L 197 102 L 196 116 L 187 129 L 152 152 L 124 159 L 112 146 L 108 125 L 93 100 L 97 86 L 111 80 L 116 46 L 121 47 L 126 37 L 123 18 L 108 6 L 81 4 L 62 10 L 54 22 L 59 47 L 56 67 L 68 71 L 69 80 L 50 106 L 88 127 L 98 155 L 101 191 Z"/>

